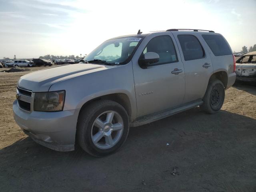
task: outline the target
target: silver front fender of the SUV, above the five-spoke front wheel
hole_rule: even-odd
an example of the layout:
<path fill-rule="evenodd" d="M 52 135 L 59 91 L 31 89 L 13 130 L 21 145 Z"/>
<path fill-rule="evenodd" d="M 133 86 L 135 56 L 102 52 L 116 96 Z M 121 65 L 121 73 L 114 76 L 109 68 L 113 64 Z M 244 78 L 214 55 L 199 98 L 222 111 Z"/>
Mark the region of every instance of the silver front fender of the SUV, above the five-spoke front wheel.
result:
<path fill-rule="evenodd" d="M 66 90 L 63 110 L 80 109 L 86 102 L 108 94 L 123 93 L 130 100 L 132 118 L 136 116 L 136 97 L 131 62 L 66 79 L 53 84 L 49 91 Z"/>

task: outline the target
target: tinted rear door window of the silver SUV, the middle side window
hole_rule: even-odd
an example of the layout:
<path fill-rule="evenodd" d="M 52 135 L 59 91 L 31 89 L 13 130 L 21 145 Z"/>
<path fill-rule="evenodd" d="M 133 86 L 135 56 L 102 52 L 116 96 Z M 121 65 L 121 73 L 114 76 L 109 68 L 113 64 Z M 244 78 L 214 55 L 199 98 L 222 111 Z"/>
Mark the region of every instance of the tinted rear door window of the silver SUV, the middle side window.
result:
<path fill-rule="evenodd" d="M 185 61 L 204 58 L 202 45 L 194 35 L 178 35 Z"/>

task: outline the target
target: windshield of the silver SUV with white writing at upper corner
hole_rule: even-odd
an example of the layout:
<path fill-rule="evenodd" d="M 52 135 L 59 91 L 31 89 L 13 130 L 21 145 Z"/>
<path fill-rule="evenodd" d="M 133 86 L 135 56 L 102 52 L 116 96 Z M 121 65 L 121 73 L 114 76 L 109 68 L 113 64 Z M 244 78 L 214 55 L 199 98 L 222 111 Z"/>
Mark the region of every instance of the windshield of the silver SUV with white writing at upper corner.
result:
<path fill-rule="evenodd" d="M 103 42 L 84 58 L 88 62 L 106 61 L 108 64 L 126 64 L 144 37 L 132 36 Z"/>

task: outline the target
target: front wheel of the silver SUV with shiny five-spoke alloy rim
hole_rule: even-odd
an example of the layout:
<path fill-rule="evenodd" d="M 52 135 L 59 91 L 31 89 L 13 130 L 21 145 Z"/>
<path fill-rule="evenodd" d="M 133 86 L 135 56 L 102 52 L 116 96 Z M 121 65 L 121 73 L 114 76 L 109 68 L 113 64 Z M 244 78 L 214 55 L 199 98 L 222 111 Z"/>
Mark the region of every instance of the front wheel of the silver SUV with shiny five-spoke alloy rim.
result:
<path fill-rule="evenodd" d="M 112 121 L 108 121 L 107 117 L 113 114 Z M 92 156 L 102 157 L 116 152 L 124 144 L 128 132 L 128 114 L 117 102 L 99 100 L 89 104 L 79 114 L 77 140 L 81 148 Z"/>

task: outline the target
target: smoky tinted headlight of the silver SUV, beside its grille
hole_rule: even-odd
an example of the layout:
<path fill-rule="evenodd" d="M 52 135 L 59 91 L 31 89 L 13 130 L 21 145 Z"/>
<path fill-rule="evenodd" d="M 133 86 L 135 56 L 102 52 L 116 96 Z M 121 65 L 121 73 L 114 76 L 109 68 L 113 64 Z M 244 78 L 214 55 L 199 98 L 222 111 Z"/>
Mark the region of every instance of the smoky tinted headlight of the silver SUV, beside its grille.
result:
<path fill-rule="evenodd" d="M 38 92 L 34 97 L 34 111 L 62 111 L 65 91 Z"/>

